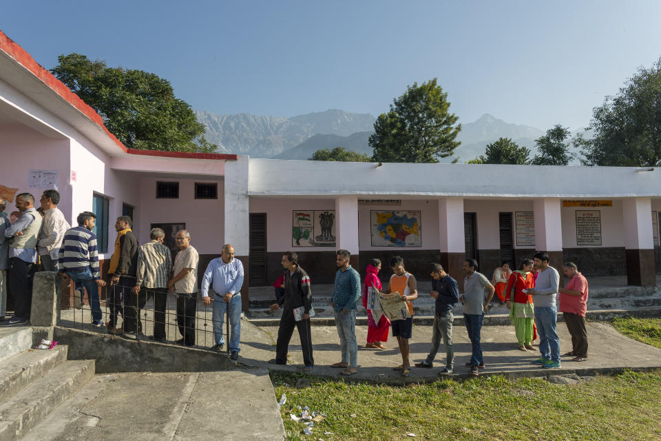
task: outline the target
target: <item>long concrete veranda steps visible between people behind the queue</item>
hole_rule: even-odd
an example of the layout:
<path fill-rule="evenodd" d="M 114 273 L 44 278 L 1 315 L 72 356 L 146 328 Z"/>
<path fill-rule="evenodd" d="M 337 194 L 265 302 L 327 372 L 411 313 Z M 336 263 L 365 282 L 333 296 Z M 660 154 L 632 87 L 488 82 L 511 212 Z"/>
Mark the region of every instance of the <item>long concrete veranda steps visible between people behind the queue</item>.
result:
<path fill-rule="evenodd" d="M 333 309 L 330 307 L 330 293 L 332 285 L 327 285 L 329 288 L 319 289 L 319 294 L 313 296 L 313 307 L 317 322 L 324 322 L 325 319 L 333 318 Z M 431 289 L 430 282 L 419 283 L 419 296 L 413 302 L 413 310 L 415 313 L 414 320 L 424 319 L 434 316 L 434 299 L 427 294 Z M 314 292 L 314 291 L 313 291 Z M 495 296 L 494 296 L 495 298 Z M 251 322 L 255 325 L 273 325 L 277 320 L 280 320 L 281 311 L 275 311 L 273 314 L 269 313 L 269 305 L 275 302 L 275 298 L 258 298 L 250 300 L 250 312 L 248 314 Z M 661 289 L 658 287 L 594 287 L 589 291 L 589 298 L 587 301 L 588 311 L 592 311 L 598 317 L 608 316 L 614 311 L 648 311 L 651 314 L 661 315 Z M 463 307 L 461 303 L 454 307 L 454 316 L 461 318 L 463 316 Z M 492 302 L 490 311 L 485 317 L 487 322 L 492 322 L 492 325 L 507 322 L 509 310 L 505 305 L 500 305 L 499 302 Z M 363 308 L 362 302 L 358 302 L 358 321 L 364 320 L 366 322 L 366 311 Z M 485 323 L 486 324 L 486 323 Z"/>

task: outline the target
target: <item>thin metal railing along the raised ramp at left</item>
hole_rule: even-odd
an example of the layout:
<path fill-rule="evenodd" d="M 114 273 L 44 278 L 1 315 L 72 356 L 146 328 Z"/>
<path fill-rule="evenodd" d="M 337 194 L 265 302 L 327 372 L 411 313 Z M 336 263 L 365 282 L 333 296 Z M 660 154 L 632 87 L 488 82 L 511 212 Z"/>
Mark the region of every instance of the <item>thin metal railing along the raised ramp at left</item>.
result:
<path fill-rule="evenodd" d="M 70 285 L 74 285 L 73 280 Z M 198 349 L 211 349 L 216 344 L 213 305 L 222 300 L 213 298 L 213 291 L 209 292 L 209 305 L 204 305 L 198 293 L 189 296 L 165 289 L 140 287 L 134 294 L 133 287 L 107 284 L 98 287 L 98 301 L 90 298 L 87 289 L 72 291 L 72 305 L 60 311 L 58 324 L 63 327 Z M 229 305 L 222 321 L 224 351 L 229 353 Z"/>

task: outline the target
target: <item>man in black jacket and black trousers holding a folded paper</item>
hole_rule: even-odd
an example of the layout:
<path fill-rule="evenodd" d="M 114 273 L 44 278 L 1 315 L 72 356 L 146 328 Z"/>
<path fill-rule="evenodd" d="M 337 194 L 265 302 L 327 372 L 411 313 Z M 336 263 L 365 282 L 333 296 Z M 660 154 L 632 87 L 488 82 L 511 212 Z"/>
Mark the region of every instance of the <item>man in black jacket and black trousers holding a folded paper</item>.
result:
<path fill-rule="evenodd" d="M 287 364 L 287 349 L 294 326 L 298 328 L 303 349 L 304 372 L 309 372 L 315 365 L 312 356 L 312 336 L 310 333 L 310 309 L 312 307 L 312 290 L 310 277 L 298 265 L 298 256 L 295 252 L 286 252 L 282 256 L 284 271 L 284 297 L 278 303 L 271 305 L 271 311 L 284 307 L 280 318 L 280 328 L 277 330 L 275 344 L 275 358 L 269 362 L 275 365 Z M 303 308 L 301 319 L 296 321 L 294 310 Z"/>

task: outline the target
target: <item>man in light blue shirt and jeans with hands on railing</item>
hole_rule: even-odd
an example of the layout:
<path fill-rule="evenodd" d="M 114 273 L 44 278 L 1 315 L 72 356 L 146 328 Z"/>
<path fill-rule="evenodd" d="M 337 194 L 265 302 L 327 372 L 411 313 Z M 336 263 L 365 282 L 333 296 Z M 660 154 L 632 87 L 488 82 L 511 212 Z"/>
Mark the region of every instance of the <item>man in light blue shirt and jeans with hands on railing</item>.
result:
<path fill-rule="evenodd" d="M 209 296 L 209 285 L 213 289 L 213 299 Z M 216 344 L 213 351 L 222 351 L 225 338 L 222 334 L 222 321 L 225 311 L 229 311 L 229 357 L 236 360 L 239 357 L 239 342 L 241 340 L 241 285 L 243 285 L 243 265 L 241 260 L 234 258 L 234 247 L 223 245 L 219 258 L 209 262 L 202 277 L 202 302 L 209 305 L 213 300 L 213 338 Z"/>

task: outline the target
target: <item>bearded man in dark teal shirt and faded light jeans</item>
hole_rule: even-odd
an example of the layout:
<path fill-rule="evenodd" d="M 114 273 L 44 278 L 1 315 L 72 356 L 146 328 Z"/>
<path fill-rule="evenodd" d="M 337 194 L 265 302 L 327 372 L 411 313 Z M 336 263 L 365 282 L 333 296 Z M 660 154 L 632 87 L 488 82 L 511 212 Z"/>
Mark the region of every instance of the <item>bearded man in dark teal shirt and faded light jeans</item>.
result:
<path fill-rule="evenodd" d="M 356 340 L 356 302 L 361 296 L 360 275 L 349 265 L 351 254 L 346 249 L 337 252 L 335 288 L 330 306 L 335 313 L 335 327 L 342 348 L 342 361 L 331 365 L 345 368 L 340 375 L 350 376 L 358 371 L 358 341 Z"/>

